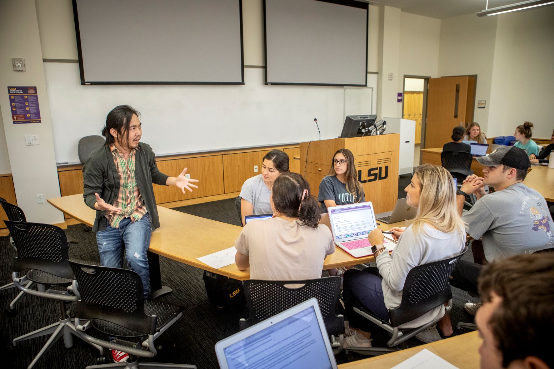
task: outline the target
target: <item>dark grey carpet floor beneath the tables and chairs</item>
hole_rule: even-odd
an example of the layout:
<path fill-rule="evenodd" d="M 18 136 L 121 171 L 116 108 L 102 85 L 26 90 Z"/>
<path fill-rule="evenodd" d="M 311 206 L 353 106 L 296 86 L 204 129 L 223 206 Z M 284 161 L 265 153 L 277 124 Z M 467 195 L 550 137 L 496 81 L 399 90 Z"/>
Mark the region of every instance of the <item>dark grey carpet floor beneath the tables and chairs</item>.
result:
<path fill-rule="evenodd" d="M 403 189 L 409 183 L 409 178 L 409 175 L 401 176 L 398 185 L 399 198 L 405 197 Z M 234 199 L 183 206 L 175 210 L 239 225 Z M 70 247 L 70 258 L 99 263 L 94 233 L 87 232 L 83 225 L 69 226 L 66 233 L 80 241 L 78 245 Z M 10 281 L 12 257 L 13 249 L 9 246 L 9 237 L 0 237 L 0 283 L 2 284 Z M 466 253 L 464 259 L 471 260 L 470 252 Z M 209 304 L 201 269 L 164 257 L 160 257 L 160 264 L 163 284 L 173 289 L 172 294 L 162 299 L 186 305 L 187 309 L 182 318 L 156 340 L 157 344 L 163 346 L 163 350 L 151 361 L 188 363 L 198 368 L 217 368 L 214 345 L 217 341 L 238 331 L 238 319 L 243 316 L 243 313 L 217 309 Z M 327 273 L 324 272 L 324 275 L 326 276 Z M 17 290 L 13 288 L 2 291 L 0 306 L 3 306 L 3 309 L 7 308 L 16 294 Z M 473 317 L 463 309 L 463 304 L 468 299 L 474 299 L 456 288 L 453 288 L 453 295 L 454 307 L 451 314 L 453 324 L 458 321 L 473 321 Z M 70 308 L 73 309 L 73 306 L 70 305 Z M 2 332 L 0 347 L 6 354 L 2 356 L 6 367 L 25 368 L 48 337 L 20 342 L 16 349 L 10 347 L 11 340 L 55 323 L 60 316 L 60 307 L 57 301 L 24 295 L 18 301 L 16 309 L 17 314 L 9 318 L 0 313 Z M 337 304 L 337 313 L 341 312 L 342 307 Z M 387 334 L 376 327 L 373 330 L 373 345 L 384 347 L 387 341 Z M 419 344 L 421 342 L 416 339 L 408 341 L 408 346 Z M 71 349 L 66 349 L 63 340 L 60 340 L 38 361 L 35 368 L 84 368 L 86 365 L 96 363 L 96 356 L 95 349 L 79 339 L 75 338 Z M 359 360 L 363 357 L 353 353 L 346 355 L 344 351 L 336 356 L 338 363 Z"/>

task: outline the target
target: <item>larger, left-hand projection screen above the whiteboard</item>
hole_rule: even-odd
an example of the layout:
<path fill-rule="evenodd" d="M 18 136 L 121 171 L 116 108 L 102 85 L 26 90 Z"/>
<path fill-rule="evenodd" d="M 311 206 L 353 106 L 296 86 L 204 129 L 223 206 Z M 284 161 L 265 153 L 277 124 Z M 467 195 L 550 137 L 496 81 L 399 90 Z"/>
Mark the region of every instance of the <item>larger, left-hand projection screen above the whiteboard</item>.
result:
<path fill-rule="evenodd" d="M 240 0 L 73 0 L 81 84 L 244 84 Z"/>

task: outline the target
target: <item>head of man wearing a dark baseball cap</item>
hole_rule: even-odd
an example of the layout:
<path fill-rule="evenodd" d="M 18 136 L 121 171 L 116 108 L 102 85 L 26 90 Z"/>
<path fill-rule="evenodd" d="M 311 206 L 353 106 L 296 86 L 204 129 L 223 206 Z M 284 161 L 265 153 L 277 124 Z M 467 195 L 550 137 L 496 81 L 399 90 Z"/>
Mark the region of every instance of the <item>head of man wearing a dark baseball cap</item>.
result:
<path fill-rule="evenodd" d="M 531 162 L 524 149 L 514 146 L 497 148 L 489 155 L 476 158 L 484 165 L 483 183 L 497 190 L 521 182 L 527 175 Z"/>

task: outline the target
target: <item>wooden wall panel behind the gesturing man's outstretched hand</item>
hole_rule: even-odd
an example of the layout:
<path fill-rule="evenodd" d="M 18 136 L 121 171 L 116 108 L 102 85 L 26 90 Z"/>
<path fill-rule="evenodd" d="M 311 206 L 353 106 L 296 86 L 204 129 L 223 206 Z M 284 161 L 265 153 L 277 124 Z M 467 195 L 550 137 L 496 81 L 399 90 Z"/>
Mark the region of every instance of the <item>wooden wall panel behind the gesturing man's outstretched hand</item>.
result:
<path fill-rule="evenodd" d="M 158 169 L 170 176 L 177 176 L 186 167 L 192 179 L 198 179 L 198 188 L 185 194 L 175 186 L 153 185 L 157 204 L 223 194 L 223 157 L 212 155 L 199 158 L 156 160 Z"/>

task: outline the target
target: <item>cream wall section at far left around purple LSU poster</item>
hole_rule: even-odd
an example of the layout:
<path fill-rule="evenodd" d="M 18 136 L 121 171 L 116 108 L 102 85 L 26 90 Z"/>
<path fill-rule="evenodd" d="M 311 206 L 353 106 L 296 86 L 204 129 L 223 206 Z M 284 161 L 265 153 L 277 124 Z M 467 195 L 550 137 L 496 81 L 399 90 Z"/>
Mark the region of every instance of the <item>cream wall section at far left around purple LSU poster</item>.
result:
<path fill-rule="evenodd" d="M 22 19 L 25 20 L 22 27 Z M 9 160 L 16 188 L 17 204 L 27 220 L 60 223 L 61 212 L 48 203 L 37 204 L 37 194 L 45 199 L 60 195 L 50 126 L 50 108 L 44 81 L 37 11 L 33 0 L 0 2 L 0 99 Z M 24 58 L 27 71 L 12 69 L 12 58 Z M 42 123 L 13 124 L 6 86 L 37 86 Z M 37 134 L 39 145 L 26 146 L 25 134 Z"/>

